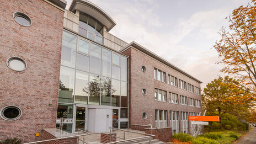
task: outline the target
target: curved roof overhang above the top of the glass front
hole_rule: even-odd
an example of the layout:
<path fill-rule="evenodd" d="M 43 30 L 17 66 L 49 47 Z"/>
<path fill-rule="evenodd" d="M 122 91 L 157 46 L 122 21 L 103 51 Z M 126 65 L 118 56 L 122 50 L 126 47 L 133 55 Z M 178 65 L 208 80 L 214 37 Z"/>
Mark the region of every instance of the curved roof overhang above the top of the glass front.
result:
<path fill-rule="evenodd" d="M 87 0 L 73 0 L 70 11 L 75 12 L 75 10 L 79 10 L 97 19 L 106 26 L 106 31 L 111 30 L 116 25 L 115 21 L 103 9 Z"/>

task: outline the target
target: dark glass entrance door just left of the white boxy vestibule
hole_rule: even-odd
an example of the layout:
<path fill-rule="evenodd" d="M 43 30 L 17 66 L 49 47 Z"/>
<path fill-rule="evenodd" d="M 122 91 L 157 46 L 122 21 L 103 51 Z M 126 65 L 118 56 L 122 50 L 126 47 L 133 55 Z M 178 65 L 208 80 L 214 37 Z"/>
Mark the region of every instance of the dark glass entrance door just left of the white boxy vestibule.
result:
<path fill-rule="evenodd" d="M 75 118 L 76 132 L 78 129 L 86 130 L 86 107 L 76 106 L 76 118 Z"/>

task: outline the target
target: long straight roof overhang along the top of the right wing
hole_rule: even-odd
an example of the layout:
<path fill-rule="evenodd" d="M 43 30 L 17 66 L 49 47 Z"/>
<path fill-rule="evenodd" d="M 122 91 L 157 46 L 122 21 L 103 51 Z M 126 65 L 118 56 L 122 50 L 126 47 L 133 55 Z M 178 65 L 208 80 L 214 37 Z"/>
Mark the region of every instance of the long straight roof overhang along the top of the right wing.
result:
<path fill-rule="evenodd" d="M 174 66 L 172 63 L 168 62 L 167 60 L 164 60 L 164 58 L 158 56 L 157 54 L 154 54 L 154 52 L 146 49 L 145 47 L 141 46 L 140 44 L 138 44 L 137 42 L 135 41 L 132 41 L 130 44 L 128 44 L 127 46 L 124 47 L 124 49 L 121 49 L 119 52 L 124 52 L 126 51 L 127 49 L 130 49 L 130 48 L 134 48 L 134 49 L 137 49 L 143 53 L 145 53 L 146 55 L 148 56 L 151 56 L 152 58 L 164 63 L 165 65 L 173 68 L 174 70 L 184 74 L 185 76 L 195 80 L 196 82 L 199 82 L 199 83 L 202 83 L 201 81 L 199 81 L 198 79 L 196 79 L 195 77 L 191 76 L 189 73 L 186 73 L 185 71 L 181 70 L 180 68 L 178 68 L 177 66 Z"/>

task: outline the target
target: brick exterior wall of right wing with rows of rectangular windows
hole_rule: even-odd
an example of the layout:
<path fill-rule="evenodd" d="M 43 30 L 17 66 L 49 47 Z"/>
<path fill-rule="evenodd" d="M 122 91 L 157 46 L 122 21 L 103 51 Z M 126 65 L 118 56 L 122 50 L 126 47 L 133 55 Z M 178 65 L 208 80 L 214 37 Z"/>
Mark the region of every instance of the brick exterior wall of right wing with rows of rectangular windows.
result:
<path fill-rule="evenodd" d="M 168 110 L 167 111 L 167 123 L 170 126 L 170 115 L 169 111 L 186 111 L 199 113 L 202 111 L 201 108 L 194 106 L 172 104 L 169 102 L 159 102 L 154 100 L 154 88 L 162 89 L 167 91 L 167 100 L 169 98 L 169 92 L 177 93 L 179 95 L 185 95 L 186 97 L 195 98 L 201 100 L 201 95 L 190 93 L 187 90 L 183 90 L 178 87 L 170 86 L 167 83 L 163 83 L 154 79 L 154 68 L 166 72 L 166 75 L 172 74 L 177 77 L 178 80 L 182 79 L 187 83 L 193 84 L 195 87 L 200 88 L 200 83 L 194 81 L 191 78 L 186 77 L 184 74 L 174 71 L 172 68 L 164 65 L 163 63 L 155 60 L 154 58 L 143 54 L 134 48 L 127 49 L 122 52 L 129 56 L 129 106 L 130 106 L 130 126 L 133 124 L 148 125 L 151 124 L 150 115 L 152 115 L 153 125 L 155 125 L 155 110 Z M 141 67 L 145 66 L 146 71 L 142 72 Z M 142 94 L 142 89 L 147 90 L 147 94 Z M 142 118 L 142 113 L 147 113 L 147 119 Z M 180 113 L 179 113 L 179 125 L 180 125 Z M 180 127 L 180 126 L 179 126 Z"/>

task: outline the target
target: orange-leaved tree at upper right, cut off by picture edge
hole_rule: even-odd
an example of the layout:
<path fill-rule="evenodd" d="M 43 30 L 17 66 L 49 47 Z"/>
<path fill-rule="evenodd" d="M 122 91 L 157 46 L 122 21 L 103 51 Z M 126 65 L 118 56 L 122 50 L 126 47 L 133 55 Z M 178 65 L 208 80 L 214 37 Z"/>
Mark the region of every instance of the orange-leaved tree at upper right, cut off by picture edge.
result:
<path fill-rule="evenodd" d="M 226 18 L 227 19 L 227 18 Z M 241 86 L 256 92 L 256 0 L 234 9 L 228 17 L 229 30 L 222 27 L 214 48 L 224 63 L 221 72 L 235 74 Z"/>

